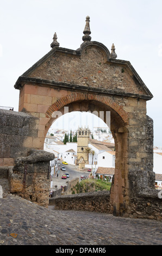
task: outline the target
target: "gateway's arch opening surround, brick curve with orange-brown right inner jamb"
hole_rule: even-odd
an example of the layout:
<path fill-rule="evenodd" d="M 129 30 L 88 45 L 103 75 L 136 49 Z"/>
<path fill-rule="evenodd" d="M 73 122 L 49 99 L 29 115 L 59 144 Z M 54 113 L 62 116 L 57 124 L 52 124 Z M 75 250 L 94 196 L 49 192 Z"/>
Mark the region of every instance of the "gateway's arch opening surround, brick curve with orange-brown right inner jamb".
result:
<path fill-rule="evenodd" d="M 120 212 L 126 211 L 129 199 L 127 197 L 128 187 L 128 113 L 124 111 L 115 101 L 108 96 L 72 93 L 61 97 L 46 111 L 46 117 L 53 120 L 53 113 L 64 114 L 64 107 L 68 107 L 71 111 L 90 111 L 103 112 L 105 123 L 107 114 L 110 111 L 110 130 L 115 140 L 116 164 L 115 164 L 115 180 L 111 187 L 111 212 L 114 215 L 120 215 Z M 56 117 L 57 114 L 54 114 Z M 99 116 L 99 115 L 98 115 Z M 51 122 L 48 122 L 50 124 Z M 47 126 L 47 131 L 49 127 Z"/>

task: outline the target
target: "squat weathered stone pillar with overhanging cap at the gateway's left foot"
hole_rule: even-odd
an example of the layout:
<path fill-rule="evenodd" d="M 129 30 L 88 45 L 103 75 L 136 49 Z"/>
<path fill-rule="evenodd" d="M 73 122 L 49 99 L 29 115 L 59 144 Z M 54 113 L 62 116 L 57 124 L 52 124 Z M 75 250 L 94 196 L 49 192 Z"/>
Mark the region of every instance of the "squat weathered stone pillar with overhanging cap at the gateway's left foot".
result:
<path fill-rule="evenodd" d="M 54 154 L 35 149 L 27 157 L 18 157 L 9 173 L 10 192 L 48 207 L 53 159 Z"/>

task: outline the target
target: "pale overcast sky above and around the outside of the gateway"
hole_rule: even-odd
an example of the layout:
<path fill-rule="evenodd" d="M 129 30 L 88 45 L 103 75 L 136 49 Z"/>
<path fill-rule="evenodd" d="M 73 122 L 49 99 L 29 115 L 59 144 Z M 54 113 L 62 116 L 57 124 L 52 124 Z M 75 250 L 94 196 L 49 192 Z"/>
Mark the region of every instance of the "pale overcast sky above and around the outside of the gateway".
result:
<path fill-rule="evenodd" d="M 162 146 L 162 1 L 161 0 L 0 0 L 0 106 L 18 111 L 19 76 L 51 50 L 54 32 L 60 47 L 82 44 L 85 17 L 91 40 L 117 59 L 129 60 L 153 94 L 147 114 L 154 120 L 154 145 Z"/>

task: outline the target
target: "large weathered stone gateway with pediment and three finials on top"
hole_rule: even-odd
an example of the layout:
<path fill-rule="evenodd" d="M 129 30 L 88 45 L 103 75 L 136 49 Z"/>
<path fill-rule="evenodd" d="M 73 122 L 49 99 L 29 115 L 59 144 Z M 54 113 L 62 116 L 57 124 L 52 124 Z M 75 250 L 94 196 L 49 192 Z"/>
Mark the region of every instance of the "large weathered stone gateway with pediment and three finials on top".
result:
<path fill-rule="evenodd" d="M 111 212 L 123 215 L 136 193 L 154 188 L 152 119 L 146 115 L 146 101 L 153 96 L 130 62 L 116 59 L 114 44 L 110 53 L 91 41 L 89 17 L 83 33 L 77 50 L 59 47 L 54 34 L 52 50 L 18 78 L 19 111 L 36 117 L 38 129 L 23 146 L 30 141 L 30 147 L 43 149 L 54 119 L 67 111 L 101 112 L 105 122 L 110 112 L 116 150 Z"/>

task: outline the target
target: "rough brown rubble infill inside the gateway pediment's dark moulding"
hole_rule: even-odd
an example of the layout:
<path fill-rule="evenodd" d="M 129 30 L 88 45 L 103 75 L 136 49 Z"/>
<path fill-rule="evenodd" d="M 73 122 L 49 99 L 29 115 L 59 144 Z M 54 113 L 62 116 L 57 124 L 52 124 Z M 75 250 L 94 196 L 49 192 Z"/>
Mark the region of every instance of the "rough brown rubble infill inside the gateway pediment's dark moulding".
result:
<path fill-rule="evenodd" d="M 55 52 L 42 65 L 30 72 L 29 76 L 92 88 L 113 90 L 115 88 L 118 92 L 139 94 L 130 71 L 114 63 L 105 65 L 107 59 L 105 52 L 92 42 L 90 47 L 83 48 L 81 56 L 77 53 L 72 56 L 72 54 Z M 142 94 L 142 90 L 140 93 Z"/>

